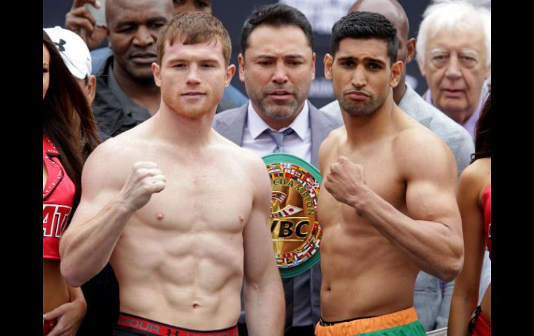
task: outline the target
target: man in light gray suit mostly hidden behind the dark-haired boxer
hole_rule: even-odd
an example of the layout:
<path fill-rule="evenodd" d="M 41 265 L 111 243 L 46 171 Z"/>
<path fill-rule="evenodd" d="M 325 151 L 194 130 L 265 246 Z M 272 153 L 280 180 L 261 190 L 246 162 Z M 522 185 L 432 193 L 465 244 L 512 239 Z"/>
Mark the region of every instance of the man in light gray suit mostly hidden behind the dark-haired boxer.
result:
<path fill-rule="evenodd" d="M 395 0 L 356 1 L 349 12 L 366 11 L 384 15 L 397 29 L 399 51 L 397 61 L 407 64 L 415 55 L 415 39 L 408 39 L 410 31 L 404 8 Z M 461 125 L 424 101 L 417 92 L 406 84 L 406 67 L 403 69 L 399 85 L 393 89 L 393 100 L 406 114 L 428 127 L 440 137 L 454 154 L 458 166 L 458 177 L 469 165 L 474 152 L 472 138 Z M 341 115 L 337 100 L 321 108 L 332 115 Z M 449 306 L 454 281 L 444 283 L 435 276 L 420 272 L 415 281 L 413 306 L 424 329 L 445 328 L 449 317 Z"/>

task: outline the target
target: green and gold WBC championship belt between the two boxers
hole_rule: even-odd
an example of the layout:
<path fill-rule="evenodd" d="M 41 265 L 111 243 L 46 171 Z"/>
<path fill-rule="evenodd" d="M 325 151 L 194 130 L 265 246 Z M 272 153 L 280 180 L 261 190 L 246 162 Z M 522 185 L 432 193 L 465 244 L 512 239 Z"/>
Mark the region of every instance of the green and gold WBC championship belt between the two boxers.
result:
<path fill-rule="evenodd" d="M 319 170 L 286 153 L 263 157 L 270 177 L 269 225 L 282 278 L 306 272 L 320 260 L 322 231 L 317 221 Z"/>

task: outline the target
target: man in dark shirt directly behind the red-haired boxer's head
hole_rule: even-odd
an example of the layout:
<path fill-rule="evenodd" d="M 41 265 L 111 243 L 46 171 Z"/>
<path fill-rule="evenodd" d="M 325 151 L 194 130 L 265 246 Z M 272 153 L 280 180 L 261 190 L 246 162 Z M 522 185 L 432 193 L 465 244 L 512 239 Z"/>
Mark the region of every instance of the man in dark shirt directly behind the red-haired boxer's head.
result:
<path fill-rule="evenodd" d="M 77 2 L 83 1 L 75 1 L 79 6 Z M 173 2 L 107 0 L 105 15 L 113 53 L 98 70 L 92 107 L 101 130 L 117 136 L 146 121 L 160 107 L 160 88 L 150 67 L 156 60 L 157 35 L 173 17 Z M 88 34 L 85 26 L 77 30 L 67 27 L 81 36 Z"/>

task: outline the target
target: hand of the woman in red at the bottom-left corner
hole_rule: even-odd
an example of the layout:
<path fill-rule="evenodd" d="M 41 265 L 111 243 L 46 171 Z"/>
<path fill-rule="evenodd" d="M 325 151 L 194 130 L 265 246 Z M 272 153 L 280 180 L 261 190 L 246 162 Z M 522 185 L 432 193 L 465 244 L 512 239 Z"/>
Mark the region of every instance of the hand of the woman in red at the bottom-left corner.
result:
<path fill-rule="evenodd" d="M 58 319 L 58 324 L 54 326 L 48 336 L 76 336 L 83 317 L 85 317 L 85 312 L 87 312 L 87 303 L 83 297 L 64 303 L 51 312 L 46 312 L 43 315 L 44 320 Z"/>

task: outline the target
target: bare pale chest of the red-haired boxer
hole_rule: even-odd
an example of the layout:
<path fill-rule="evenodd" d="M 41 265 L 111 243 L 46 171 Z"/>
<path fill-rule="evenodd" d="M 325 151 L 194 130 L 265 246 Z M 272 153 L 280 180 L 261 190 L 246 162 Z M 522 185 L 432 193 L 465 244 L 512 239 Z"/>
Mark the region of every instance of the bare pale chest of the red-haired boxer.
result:
<path fill-rule="evenodd" d="M 166 186 L 137 212 L 145 224 L 175 231 L 237 232 L 252 209 L 250 180 L 218 166 L 162 166 Z"/>

